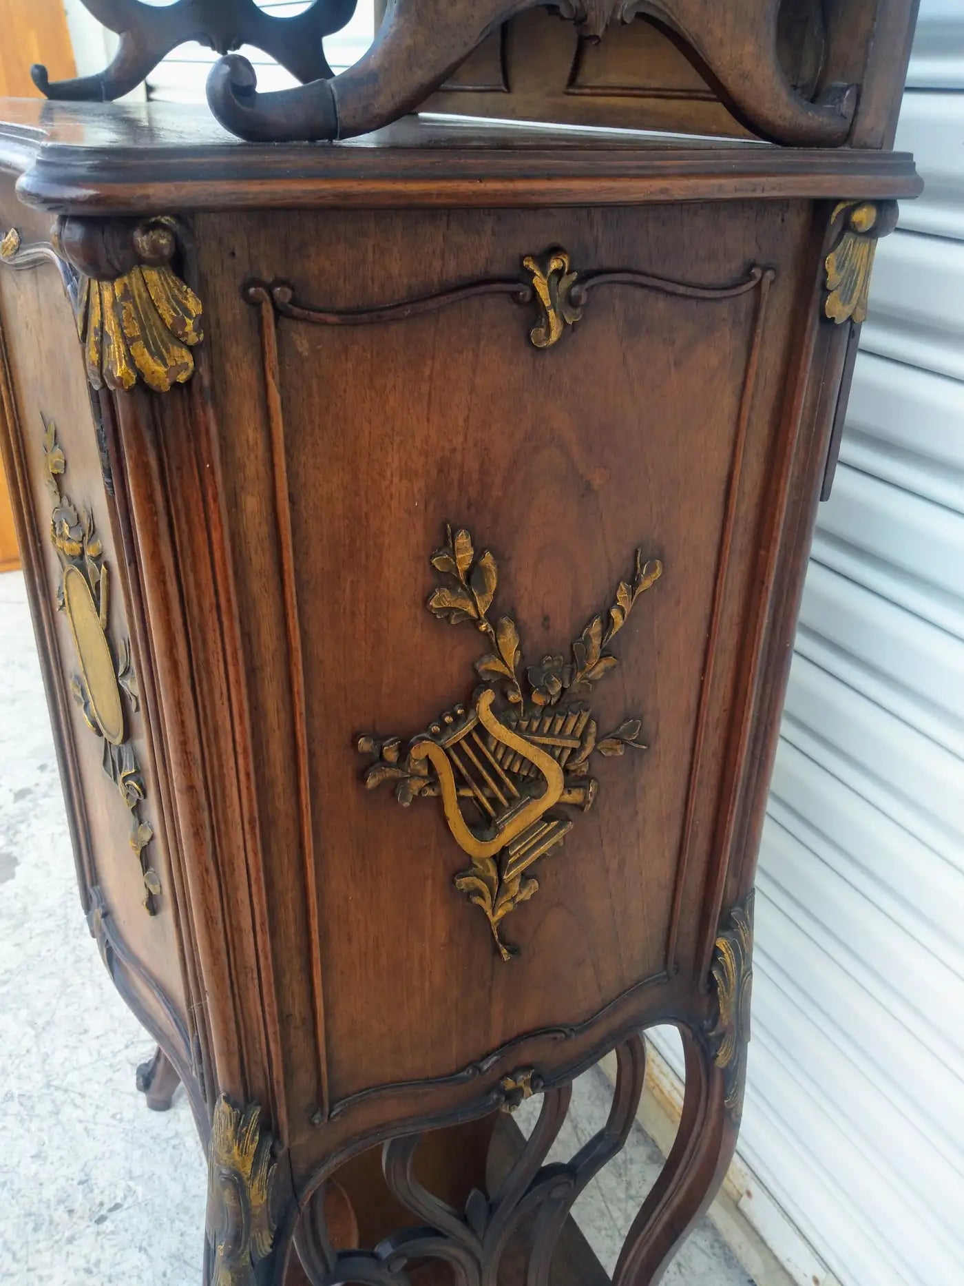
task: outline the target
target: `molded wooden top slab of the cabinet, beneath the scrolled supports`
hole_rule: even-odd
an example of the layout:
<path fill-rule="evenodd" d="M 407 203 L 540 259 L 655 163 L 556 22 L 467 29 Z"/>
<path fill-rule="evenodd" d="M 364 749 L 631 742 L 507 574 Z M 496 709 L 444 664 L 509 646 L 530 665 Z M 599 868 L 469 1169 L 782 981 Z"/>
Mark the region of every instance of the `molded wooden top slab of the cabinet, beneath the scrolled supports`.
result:
<path fill-rule="evenodd" d="M 308 148 L 239 143 L 203 107 L 0 99 L 0 170 L 54 213 L 324 206 L 632 204 L 915 197 L 907 153 L 409 117 Z"/>

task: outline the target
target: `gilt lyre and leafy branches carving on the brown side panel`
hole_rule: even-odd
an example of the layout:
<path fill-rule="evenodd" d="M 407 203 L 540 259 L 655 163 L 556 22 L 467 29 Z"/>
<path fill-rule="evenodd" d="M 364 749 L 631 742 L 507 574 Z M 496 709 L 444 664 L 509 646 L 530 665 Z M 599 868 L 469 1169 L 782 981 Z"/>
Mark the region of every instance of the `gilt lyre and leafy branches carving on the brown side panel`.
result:
<path fill-rule="evenodd" d="M 472 863 L 455 886 L 483 912 L 509 961 L 518 948 L 504 940 L 503 921 L 537 892 L 530 867 L 572 829 L 572 819 L 555 809 L 593 805 L 594 755 L 647 748 L 639 718 L 599 736 L 590 702 L 580 698 L 618 665 L 609 644 L 663 567 L 636 550 L 631 576 L 572 643 L 569 657 L 544 656 L 526 666 L 512 617 L 492 622 L 499 570 L 491 552 L 477 557 L 468 531 L 446 527 L 432 566 L 443 583 L 429 595 L 429 612 L 451 625 L 469 622 L 487 639 L 490 649 L 476 661 L 482 687 L 407 743 L 365 734 L 357 748 L 371 760 L 364 774 L 369 790 L 391 783 L 404 806 L 441 799 L 449 829 Z"/>

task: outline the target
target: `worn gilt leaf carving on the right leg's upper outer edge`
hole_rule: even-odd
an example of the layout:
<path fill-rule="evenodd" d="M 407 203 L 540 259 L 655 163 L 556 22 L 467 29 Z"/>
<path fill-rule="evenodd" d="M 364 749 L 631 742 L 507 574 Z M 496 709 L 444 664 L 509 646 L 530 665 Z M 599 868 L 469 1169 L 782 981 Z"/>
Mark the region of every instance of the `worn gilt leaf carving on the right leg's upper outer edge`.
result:
<path fill-rule="evenodd" d="M 710 1030 L 713 1062 L 724 1073 L 726 1109 L 734 1120 L 743 1115 L 747 1079 L 747 1044 L 753 990 L 753 892 L 734 907 L 716 939 L 712 977 L 717 1016 Z"/>

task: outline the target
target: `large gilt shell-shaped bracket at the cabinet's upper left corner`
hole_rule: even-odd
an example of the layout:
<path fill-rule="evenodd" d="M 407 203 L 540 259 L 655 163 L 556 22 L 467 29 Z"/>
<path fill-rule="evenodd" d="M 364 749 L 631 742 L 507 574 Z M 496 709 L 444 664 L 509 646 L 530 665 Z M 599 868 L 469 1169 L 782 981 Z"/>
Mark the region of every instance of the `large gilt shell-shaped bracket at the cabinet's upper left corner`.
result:
<path fill-rule="evenodd" d="M 68 265 L 68 291 L 93 388 L 156 392 L 194 373 L 202 305 L 175 265 L 177 225 L 167 217 L 60 219 L 54 249 Z"/>

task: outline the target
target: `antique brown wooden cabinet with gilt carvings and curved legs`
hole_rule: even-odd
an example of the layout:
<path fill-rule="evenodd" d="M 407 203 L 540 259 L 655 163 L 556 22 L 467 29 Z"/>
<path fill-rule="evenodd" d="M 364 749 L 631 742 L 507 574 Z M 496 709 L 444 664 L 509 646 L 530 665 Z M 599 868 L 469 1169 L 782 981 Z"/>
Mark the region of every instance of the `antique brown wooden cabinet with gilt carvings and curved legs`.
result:
<path fill-rule="evenodd" d="M 659 1022 L 685 1107 L 614 1281 L 711 1199 L 811 525 L 919 189 L 913 10 L 397 0 L 334 80 L 219 63 L 254 143 L 0 104 L 4 464 L 87 922 L 210 1148 L 206 1280 L 604 1280 L 567 1218 Z"/>

